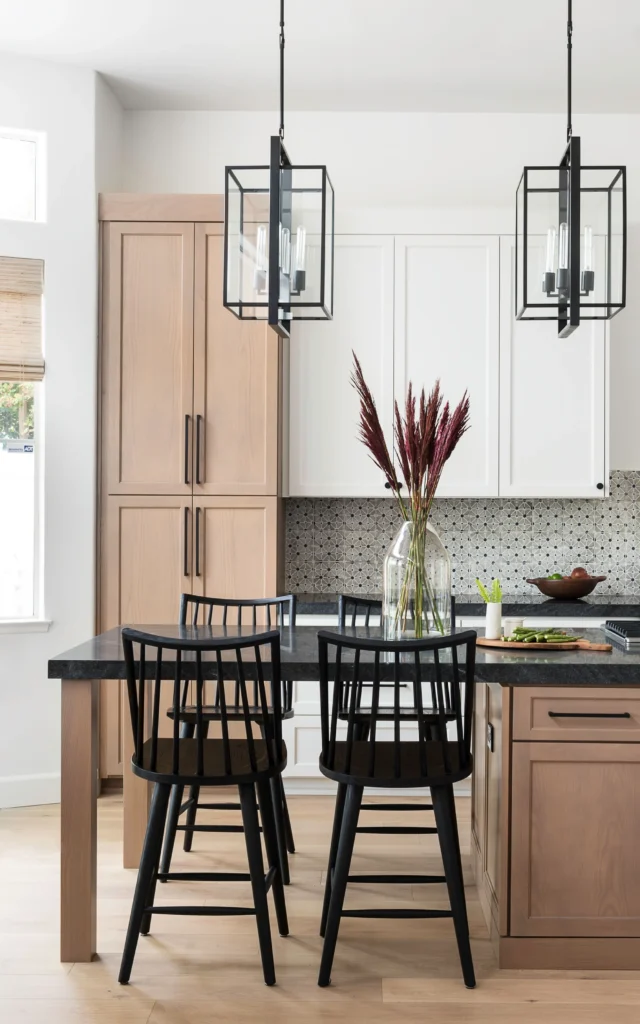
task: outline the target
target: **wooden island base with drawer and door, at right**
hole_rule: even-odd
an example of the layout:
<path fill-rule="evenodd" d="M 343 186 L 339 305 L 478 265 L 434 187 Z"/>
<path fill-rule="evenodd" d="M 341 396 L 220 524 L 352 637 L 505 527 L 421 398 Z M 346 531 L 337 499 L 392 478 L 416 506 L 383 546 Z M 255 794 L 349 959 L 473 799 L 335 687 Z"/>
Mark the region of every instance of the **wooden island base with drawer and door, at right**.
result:
<path fill-rule="evenodd" d="M 479 684 L 471 843 L 501 968 L 637 970 L 638 691 Z"/>

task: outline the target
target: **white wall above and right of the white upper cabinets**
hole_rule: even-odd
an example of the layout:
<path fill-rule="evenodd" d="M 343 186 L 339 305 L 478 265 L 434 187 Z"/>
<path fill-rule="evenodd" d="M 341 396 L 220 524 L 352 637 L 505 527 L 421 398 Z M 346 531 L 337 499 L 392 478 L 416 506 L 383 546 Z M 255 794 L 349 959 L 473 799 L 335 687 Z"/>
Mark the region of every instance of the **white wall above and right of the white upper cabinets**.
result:
<path fill-rule="evenodd" d="M 514 229 L 524 164 L 557 164 L 565 120 L 557 115 L 287 115 L 297 163 L 326 163 L 339 231 Z M 221 193 L 226 164 L 265 163 L 278 116 L 269 113 L 129 111 L 128 191 Z M 575 115 L 585 163 L 629 171 L 629 307 L 611 324 L 611 468 L 640 469 L 640 116 Z"/>

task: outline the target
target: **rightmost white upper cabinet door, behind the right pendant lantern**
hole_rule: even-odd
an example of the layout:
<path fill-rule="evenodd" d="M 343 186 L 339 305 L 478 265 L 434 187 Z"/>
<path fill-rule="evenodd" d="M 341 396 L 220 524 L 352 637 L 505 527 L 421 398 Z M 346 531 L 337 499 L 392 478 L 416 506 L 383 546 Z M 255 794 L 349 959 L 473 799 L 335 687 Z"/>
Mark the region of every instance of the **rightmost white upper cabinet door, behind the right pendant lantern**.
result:
<path fill-rule="evenodd" d="M 558 338 L 555 321 L 516 321 L 514 240 L 501 245 L 500 493 L 602 498 L 608 489 L 604 323 L 584 321 Z"/>

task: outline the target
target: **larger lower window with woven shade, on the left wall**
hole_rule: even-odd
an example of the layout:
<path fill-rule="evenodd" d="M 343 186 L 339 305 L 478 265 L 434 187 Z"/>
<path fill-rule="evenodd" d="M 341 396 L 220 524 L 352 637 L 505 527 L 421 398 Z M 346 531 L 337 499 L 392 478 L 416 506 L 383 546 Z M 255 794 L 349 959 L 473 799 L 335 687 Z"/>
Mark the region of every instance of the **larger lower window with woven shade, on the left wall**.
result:
<path fill-rule="evenodd" d="M 41 260 L 0 257 L 0 620 L 40 612 Z"/>

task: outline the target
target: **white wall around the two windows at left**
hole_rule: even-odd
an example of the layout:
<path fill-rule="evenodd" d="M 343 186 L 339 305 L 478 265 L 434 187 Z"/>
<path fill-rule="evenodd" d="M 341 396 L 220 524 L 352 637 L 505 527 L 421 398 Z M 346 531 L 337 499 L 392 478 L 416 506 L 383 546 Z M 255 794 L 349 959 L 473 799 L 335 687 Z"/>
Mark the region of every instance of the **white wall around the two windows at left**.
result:
<path fill-rule="evenodd" d="M 51 620 L 48 632 L 0 636 L 0 807 L 59 799 L 59 683 L 47 680 L 47 659 L 94 627 L 95 120 L 93 72 L 0 57 L 0 125 L 46 132 L 46 223 L 0 221 L 0 253 L 45 262 L 43 613 Z M 110 144 L 100 159 L 116 183 Z"/>

